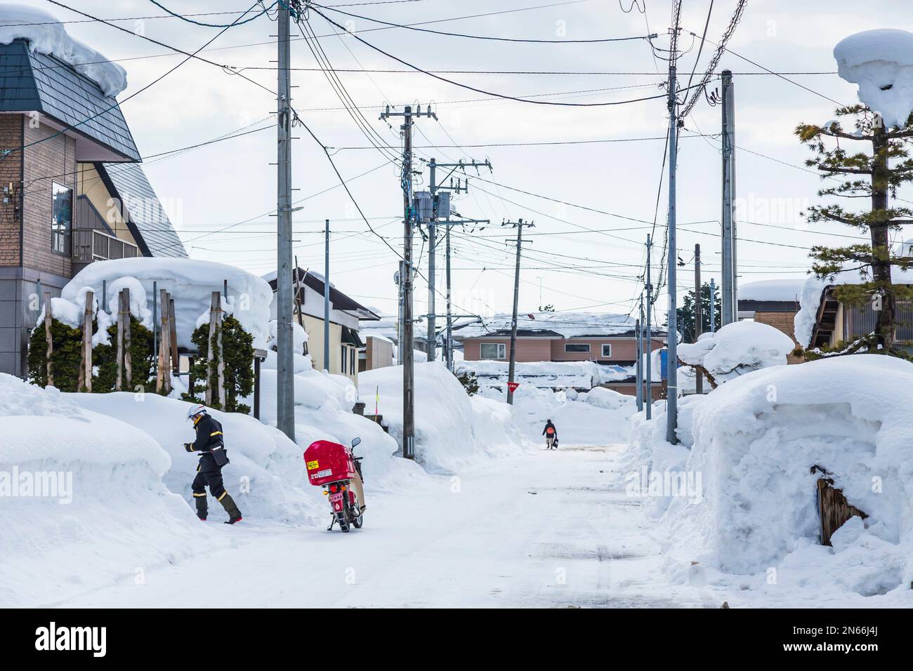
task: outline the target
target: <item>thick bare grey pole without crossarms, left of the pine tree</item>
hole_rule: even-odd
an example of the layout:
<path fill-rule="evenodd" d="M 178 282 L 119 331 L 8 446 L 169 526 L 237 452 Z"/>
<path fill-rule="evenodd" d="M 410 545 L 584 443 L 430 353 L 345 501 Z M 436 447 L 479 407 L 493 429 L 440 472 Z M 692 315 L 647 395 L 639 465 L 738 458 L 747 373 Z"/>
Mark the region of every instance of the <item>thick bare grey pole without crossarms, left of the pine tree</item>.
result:
<path fill-rule="evenodd" d="M 739 303 L 737 299 L 738 266 L 736 262 L 736 222 L 735 222 L 735 99 L 732 86 L 732 72 L 722 72 L 722 104 L 719 106 L 723 115 L 722 154 L 723 154 L 723 233 L 722 233 L 722 305 L 719 321 L 723 326 L 739 320 Z"/>

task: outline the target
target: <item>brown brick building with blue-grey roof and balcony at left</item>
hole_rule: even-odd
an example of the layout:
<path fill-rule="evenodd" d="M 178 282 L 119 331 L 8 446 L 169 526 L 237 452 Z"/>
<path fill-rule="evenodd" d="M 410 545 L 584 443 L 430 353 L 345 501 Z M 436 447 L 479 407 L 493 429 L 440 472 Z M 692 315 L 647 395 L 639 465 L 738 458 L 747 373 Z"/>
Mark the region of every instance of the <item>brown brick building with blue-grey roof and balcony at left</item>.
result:
<path fill-rule="evenodd" d="M 185 257 L 117 101 L 26 39 L 0 45 L 0 372 L 26 372 L 44 295 L 95 260 Z"/>

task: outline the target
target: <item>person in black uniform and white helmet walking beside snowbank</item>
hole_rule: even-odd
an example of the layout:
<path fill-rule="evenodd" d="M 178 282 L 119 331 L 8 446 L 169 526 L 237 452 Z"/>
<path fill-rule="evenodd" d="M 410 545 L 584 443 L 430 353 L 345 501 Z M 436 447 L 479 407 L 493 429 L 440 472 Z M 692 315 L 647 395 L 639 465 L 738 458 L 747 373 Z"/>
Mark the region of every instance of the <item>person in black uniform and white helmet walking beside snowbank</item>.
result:
<path fill-rule="evenodd" d="M 215 500 L 222 504 L 228 513 L 226 524 L 236 524 L 241 521 L 241 511 L 237 509 L 235 499 L 226 491 L 222 484 L 222 467 L 228 463 L 225 442 L 222 435 L 222 425 L 215 421 L 206 412 L 204 405 L 194 405 L 187 411 L 187 418 L 194 420 L 196 440 L 193 443 L 184 443 L 187 452 L 200 453 L 200 465 L 196 467 L 194 477 L 194 501 L 196 501 L 196 517 L 206 521 L 206 486 Z"/>

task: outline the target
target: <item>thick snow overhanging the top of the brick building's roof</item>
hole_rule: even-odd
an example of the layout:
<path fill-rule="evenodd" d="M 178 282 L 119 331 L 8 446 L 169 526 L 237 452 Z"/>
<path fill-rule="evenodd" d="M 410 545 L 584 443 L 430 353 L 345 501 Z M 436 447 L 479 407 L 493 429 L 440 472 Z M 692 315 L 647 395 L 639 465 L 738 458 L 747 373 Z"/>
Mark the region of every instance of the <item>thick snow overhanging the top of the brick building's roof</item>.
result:
<path fill-rule="evenodd" d="M 49 54 L 71 65 L 99 85 L 109 98 L 127 88 L 127 71 L 78 39 L 70 37 L 56 16 L 27 5 L 0 7 L 0 44 L 24 37 L 33 52 Z"/>

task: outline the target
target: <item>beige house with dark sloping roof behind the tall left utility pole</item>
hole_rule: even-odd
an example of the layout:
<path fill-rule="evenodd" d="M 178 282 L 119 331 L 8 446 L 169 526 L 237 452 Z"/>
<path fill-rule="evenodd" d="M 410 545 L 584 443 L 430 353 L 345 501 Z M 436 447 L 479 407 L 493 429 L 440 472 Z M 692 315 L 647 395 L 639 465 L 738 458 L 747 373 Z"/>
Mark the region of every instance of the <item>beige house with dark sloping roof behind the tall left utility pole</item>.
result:
<path fill-rule="evenodd" d="M 314 368 L 319 371 L 329 371 L 347 376 L 352 383 L 358 384 L 360 370 L 360 351 L 365 343 L 359 337 L 359 323 L 361 321 L 376 321 L 380 317 L 371 309 L 365 308 L 358 301 L 349 298 L 339 289 L 330 284 L 330 361 L 323 361 L 323 277 L 303 268 L 292 270 L 294 279 L 298 278 L 298 288 L 294 292 L 295 305 L 293 319 L 304 327 L 308 334 L 305 343 L 306 351 L 310 354 Z M 276 273 L 263 276 L 276 293 Z M 271 318 L 276 319 L 277 301 L 274 299 L 271 307 Z"/>

